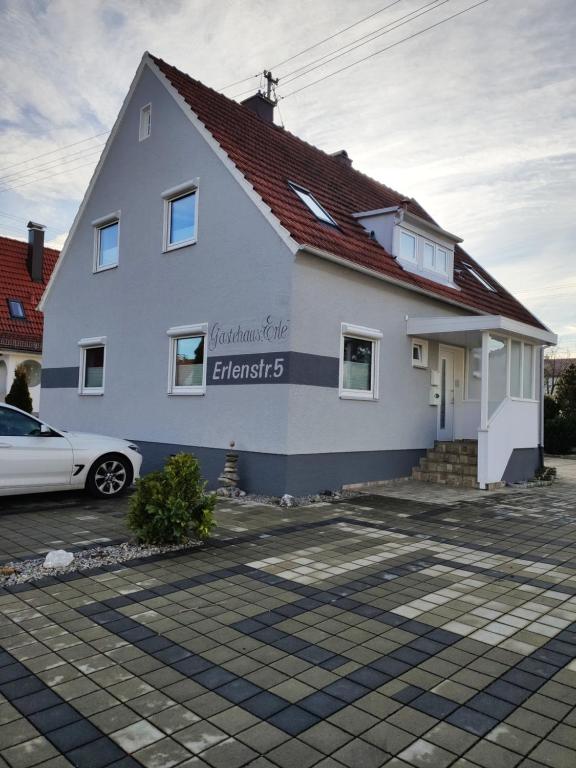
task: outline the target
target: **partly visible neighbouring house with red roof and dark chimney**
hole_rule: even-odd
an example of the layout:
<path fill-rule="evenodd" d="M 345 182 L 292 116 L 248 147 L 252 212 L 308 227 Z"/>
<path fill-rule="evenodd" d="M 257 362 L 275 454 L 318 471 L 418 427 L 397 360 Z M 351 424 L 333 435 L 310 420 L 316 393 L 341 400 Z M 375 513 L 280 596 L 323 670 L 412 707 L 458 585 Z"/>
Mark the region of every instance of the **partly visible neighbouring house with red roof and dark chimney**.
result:
<path fill-rule="evenodd" d="M 29 241 L 0 236 L 0 401 L 21 363 L 35 412 L 40 404 L 42 313 L 37 310 L 59 251 L 44 247 L 44 227 L 28 223 Z"/>

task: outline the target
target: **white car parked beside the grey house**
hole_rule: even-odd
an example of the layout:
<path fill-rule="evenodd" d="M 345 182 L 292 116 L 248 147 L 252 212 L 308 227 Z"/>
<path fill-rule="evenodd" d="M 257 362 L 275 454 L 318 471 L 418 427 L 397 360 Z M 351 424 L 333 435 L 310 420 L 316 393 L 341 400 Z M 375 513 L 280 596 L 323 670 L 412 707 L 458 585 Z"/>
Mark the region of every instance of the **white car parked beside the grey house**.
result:
<path fill-rule="evenodd" d="M 0 404 L 0 496 L 86 488 L 112 498 L 139 477 L 141 464 L 128 440 L 54 429 Z"/>

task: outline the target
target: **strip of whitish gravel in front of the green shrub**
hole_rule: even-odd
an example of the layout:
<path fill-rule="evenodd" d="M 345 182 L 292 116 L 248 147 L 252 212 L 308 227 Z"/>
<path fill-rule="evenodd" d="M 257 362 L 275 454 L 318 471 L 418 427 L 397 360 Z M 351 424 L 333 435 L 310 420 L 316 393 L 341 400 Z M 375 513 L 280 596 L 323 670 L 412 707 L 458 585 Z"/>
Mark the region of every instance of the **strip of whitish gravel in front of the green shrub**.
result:
<path fill-rule="evenodd" d="M 183 544 L 172 544 L 169 546 L 154 546 L 133 544 L 125 542 L 123 544 L 113 544 L 110 546 L 92 547 L 83 549 L 74 553 L 74 560 L 65 568 L 44 568 L 44 559 L 46 555 L 31 560 L 14 560 L 9 563 L 3 563 L 0 566 L 0 587 L 10 587 L 16 584 L 25 584 L 31 581 L 43 579 L 46 576 L 61 576 L 66 573 L 76 573 L 78 571 L 89 571 L 92 568 L 100 568 L 103 565 L 120 565 L 128 560 L 135 560 L 141 557 L 151 557 L 152 555 L 162 554 L 163 552 L 176 552 L 180 549 L 196 547 L 201 542 L 196 539 L 188 539 Z M 47 554 L 47 553 L 46 553 Z M 14 570 L 14 573 L 6 571 Z"/>

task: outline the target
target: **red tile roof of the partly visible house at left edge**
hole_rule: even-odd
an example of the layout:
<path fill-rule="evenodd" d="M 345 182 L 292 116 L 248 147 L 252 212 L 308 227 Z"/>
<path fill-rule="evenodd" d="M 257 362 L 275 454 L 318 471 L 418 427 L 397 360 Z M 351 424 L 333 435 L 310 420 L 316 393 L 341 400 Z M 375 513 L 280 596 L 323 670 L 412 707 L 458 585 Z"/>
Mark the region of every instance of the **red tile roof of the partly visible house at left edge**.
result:
<path fill-rule="evenodd" d="M 28 272 L 28 243 L 0 236 L 0 347 L 42 351 L 43 315 L 36 307 L 59 254 L 44 249 L 43 282 L 35 283 Z M 11 317 L 8 299 L 22 302 L 24 320 Z"/>

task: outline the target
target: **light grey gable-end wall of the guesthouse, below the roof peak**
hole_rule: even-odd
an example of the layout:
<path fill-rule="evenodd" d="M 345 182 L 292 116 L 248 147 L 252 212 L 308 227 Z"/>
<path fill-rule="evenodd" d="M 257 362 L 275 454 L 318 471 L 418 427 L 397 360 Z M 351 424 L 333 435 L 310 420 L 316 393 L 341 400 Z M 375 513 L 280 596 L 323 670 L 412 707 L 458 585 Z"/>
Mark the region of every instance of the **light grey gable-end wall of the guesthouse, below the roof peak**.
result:
<path fill-rule="evenodd" d="M 152 133 L 139 142 L 140 108 L 148 102 Z M 199 179 L 198 242 L 162 253 L 161 194 L 191 179 Z M 91 222 L 114 211 L 121 211 L 119 265 L 93 274 Z M 45 366 L 78 366 L 78 340 L 106 336 L 105 394 L 45 388 L 42 417 L 133 439 L 208 447 L 235 440 L 240 449 L 284 452 L 286 387 L 221 386 L 204 397 L 170 397 L 166 331 L 286 318 L 291 260 L 279 235 L 145 70 L 45 306 Z M 288 345 L 289 337 L 257 349 L 229 344 L 223 352 Z"/>

